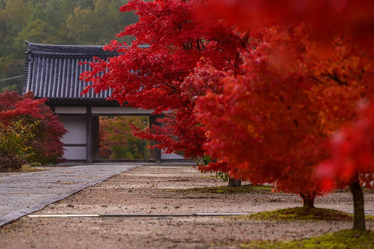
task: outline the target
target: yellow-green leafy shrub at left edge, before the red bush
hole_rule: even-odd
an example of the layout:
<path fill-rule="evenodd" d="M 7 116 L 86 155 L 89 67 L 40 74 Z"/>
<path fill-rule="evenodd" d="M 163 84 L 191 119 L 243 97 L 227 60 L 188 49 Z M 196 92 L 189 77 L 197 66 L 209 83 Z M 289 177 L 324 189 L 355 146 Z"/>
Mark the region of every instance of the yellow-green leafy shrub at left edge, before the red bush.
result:
<path fill-rule="evenodd" d="M 28 142 L 34 138 L 34 129 L 39 125 L 36 121 L 24 125 L 22 120 L 10 125 L 0 123 L 0 171 L 20 170 L 28 156 Z"/>

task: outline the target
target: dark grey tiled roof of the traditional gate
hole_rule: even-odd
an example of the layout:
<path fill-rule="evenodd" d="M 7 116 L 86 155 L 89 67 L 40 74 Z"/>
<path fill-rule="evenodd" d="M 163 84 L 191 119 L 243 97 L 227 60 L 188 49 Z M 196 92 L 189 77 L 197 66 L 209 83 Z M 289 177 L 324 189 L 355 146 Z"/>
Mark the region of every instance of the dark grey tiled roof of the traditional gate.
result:
<path fill-rule="evenodd" d="M 79 81 L 79 76 L 89 65 L 79 62 L 91 61 L 94 56 L 107 59 L 115 52 L 104 51 L 103 46 L 27 43 L 23 94 L 32 91 L 36 98 L 54 102 L 104 102 L 110 96 L 110 90 L 94 94 L 92 89 L 80 95 L 87 83 Z"/>

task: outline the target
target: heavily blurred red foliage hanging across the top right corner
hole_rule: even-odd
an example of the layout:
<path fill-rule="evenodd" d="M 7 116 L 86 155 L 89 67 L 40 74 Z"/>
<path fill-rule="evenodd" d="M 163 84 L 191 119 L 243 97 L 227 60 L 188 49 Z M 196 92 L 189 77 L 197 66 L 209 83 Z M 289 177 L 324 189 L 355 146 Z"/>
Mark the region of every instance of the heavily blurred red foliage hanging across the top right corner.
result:
<path fill-rule="evenodd" d="M 374 35 L 372 0 L 210 0 L 200 8 L 205 21 L 232 21 L 236 26 L 256 30 L 271 23 L 306 22 L 311 39 L 330 41 L 343 32 L 356 41 L 369 41 Z"/>

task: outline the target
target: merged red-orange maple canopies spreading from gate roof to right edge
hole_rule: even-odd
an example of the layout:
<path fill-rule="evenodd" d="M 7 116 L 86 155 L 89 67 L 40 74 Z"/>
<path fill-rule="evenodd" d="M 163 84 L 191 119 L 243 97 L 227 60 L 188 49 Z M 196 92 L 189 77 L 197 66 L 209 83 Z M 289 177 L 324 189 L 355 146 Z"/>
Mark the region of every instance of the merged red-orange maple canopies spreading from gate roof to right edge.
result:
<path fill-rule="evenodd" d="M 373 90 L 372 53 L 362 46 L 373 17 L 363 9 L 372 3 L 336 3 L 129 1 L 121 10 L 135 10 L 139 22 L 119 36 L 137 39 L 108 44 L 118 56 L 90 63 L 84 92 L 110 87 L 121 104 L 170 112 L 163 126 L 133 127 L 167 152 L 209 154 L 214 169 L 313 198 L 323 190 L 313 178 L 329 154 L 323 145 Z"/>

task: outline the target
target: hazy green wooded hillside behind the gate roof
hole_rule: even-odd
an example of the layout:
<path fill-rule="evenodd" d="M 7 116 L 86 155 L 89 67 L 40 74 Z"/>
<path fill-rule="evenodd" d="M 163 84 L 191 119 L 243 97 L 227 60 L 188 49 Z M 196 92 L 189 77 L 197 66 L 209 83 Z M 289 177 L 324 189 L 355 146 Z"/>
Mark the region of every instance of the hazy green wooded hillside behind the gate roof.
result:
<path fill-rule="evenodd" d="M 104 45 L 138 20 L 120 13 L 127 0 L 0 0 L 0 92 L 23 83 L 26 41 Z M 132 37 L 120 38 L 131 42 Z"/>

